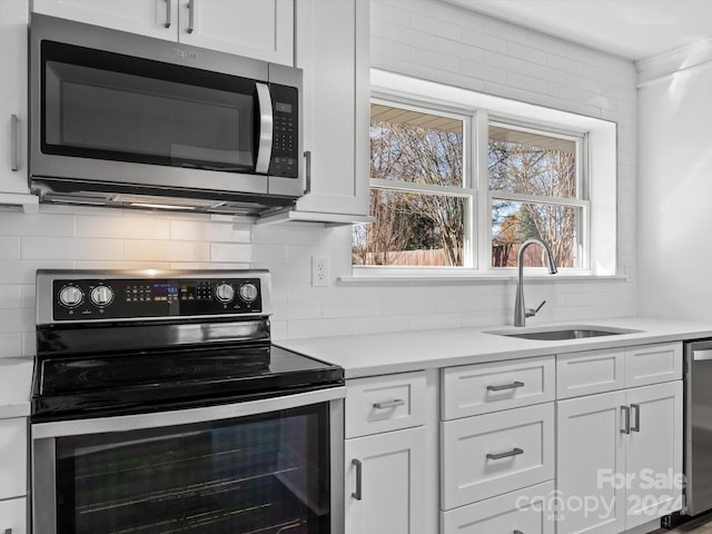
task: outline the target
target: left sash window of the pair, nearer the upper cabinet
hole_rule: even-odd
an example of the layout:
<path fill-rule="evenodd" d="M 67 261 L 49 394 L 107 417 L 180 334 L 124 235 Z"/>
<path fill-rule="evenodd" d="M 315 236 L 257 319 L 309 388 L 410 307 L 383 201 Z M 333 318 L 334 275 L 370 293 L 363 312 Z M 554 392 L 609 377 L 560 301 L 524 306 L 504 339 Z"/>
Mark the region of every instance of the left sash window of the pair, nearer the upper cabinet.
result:
<path fill-rule="evenodd" d="M 468 125 L 466 116 L 372 103 L 370 214 L 376 222 L 355 228 L 354 265 L 471 265 Z"/>

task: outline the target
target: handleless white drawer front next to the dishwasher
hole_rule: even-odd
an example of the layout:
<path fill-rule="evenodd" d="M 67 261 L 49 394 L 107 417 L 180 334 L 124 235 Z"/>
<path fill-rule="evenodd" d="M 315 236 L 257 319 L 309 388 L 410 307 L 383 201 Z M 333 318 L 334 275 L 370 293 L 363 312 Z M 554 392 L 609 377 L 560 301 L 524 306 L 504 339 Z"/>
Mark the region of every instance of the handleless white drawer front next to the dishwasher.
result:
<path fill-rule="evenodd" d="M 626 387 L 682 378 L 682 344 L 663 343 L 625 349 Z"/>

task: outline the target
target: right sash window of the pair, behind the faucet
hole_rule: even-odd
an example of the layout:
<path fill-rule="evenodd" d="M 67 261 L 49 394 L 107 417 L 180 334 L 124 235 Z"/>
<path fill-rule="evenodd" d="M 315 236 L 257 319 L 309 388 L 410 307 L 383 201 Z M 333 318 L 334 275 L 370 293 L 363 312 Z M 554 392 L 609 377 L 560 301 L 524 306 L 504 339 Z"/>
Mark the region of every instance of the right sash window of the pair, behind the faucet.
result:
<path fill-rule="evenodd" d="M 543 134 L 491 121 L 487 180 L 492 198 L 492 266 L 515 267 L 520 244 L 538 238 L 560 268 L 581 268 L 587 201 L 580 151 L 583 137 Z M 530 248 L 527 267 L 543 267 L 542 250 Z"/>

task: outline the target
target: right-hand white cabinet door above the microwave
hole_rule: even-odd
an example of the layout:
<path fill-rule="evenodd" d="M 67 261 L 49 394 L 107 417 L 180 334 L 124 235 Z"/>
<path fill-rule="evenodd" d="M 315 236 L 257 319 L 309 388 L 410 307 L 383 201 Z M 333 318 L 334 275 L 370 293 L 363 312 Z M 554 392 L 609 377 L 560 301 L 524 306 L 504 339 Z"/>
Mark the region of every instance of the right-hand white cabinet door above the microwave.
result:
<path fill-rule="evenodd" d="M 178 4 L 180 42 L 294 65 L 294 0 L 178 0 Z"/>

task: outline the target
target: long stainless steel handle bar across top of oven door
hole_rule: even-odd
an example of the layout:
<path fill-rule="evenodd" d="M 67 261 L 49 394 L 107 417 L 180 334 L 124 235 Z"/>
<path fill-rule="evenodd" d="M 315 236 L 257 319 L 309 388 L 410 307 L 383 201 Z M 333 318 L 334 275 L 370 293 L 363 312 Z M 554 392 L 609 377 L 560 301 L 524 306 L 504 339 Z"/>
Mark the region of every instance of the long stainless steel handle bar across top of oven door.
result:
<path fill-rule="evenodd" d="M 248 415 L 266 414 L 280 409 L 297 408 L 312 404 L 337 400 L 346 396 L 343 386 L 328 387 L 314 392 L 260 398 L 245 403 L 204 406 L 200 408 L 176 409 L 168 412 L 118 415 L 113 417 L 96 417 L 90 419 L 56 421 L 33 423 L 32 439 L 44 439 L 63 436 L 81 436 L 108 432 L 139 431 L 166 426 L 187 425 L 209 421 L 231 419 Z"/>

